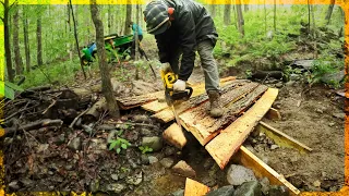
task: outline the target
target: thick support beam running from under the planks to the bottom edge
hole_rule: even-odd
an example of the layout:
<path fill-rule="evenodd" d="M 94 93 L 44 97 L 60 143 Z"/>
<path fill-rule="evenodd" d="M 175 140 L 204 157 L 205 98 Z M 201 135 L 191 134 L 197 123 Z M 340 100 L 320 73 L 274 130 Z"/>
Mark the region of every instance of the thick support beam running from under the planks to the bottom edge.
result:
<path fill-rule="evenodd" d="M 290 195 L 300 194 L 300 191 L 297 187 L 245 147 L 240 147 L 240 150 L 237 152 L 236 160 L 238 160 L 240 164 L 251 169 L 256 177 L 267 177 L 272 185 L 286 186 L 289 189 Z"/>

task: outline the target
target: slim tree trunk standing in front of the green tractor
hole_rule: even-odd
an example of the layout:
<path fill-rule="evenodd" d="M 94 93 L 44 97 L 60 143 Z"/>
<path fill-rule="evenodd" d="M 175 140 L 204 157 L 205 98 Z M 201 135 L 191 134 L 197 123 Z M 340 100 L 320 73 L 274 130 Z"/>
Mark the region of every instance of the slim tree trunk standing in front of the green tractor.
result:
<path fill-rule="evenodd" d="M 103 34 L 104 33 L 103 22 L 100 21 L 96 0 L 91 0 L 89 3 L 91 3 L 91 15 L 96 29 L 96 45 L 97 45 L 97 53 L 99 57 L 101 90 L 104 96 L 106 97 L 110 115 L 120 118 L 119 107 L 112 93 L 112 86 L 110 82 L 110 70 L 107 64 L 107 54 L 106 54 L 104 34 Z"/>

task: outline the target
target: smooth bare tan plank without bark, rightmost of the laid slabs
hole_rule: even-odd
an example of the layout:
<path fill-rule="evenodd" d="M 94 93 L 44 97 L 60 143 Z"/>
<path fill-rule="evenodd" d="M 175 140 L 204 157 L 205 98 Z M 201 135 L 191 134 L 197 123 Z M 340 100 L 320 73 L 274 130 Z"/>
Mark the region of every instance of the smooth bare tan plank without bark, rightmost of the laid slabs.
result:
<path fill-rule="evenodd" d="M 253 127 L 257 125 L 258 121 L 269 110 L 277 94 L 278 89 L 269 88 L 252 108 L 206 145 L 206 150 L 221 169 L 226 167 L 231 156 L 239 149 Z"/>

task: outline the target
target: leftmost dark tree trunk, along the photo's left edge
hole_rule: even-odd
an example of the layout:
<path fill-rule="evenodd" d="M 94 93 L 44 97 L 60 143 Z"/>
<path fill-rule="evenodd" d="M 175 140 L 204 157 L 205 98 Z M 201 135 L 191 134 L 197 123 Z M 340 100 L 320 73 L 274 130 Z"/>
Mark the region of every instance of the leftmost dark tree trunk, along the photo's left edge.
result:
<path fill-rule="evenodd" d="M 3 39 L 4 39 L 4 54 L 7 59 L 8 77 L 10 82 L 13 82 L 14 71 L 12 70 L 12 57 L 11 57 L 11 45 L 10 45 L 10 28 L 9 28 L 9 0 L 3 2 Z"/>

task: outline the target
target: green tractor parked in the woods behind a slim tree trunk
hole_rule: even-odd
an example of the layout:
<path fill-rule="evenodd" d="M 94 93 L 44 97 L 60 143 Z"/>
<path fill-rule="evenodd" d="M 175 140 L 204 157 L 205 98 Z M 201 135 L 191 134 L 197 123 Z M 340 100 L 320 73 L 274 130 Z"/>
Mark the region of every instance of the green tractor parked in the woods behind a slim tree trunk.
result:
<path fill-rule="evenodd" d="M 133 35 L 118 36 L 118 34 L 111 34 L 105 36 L 105 47 L 107 51 L 108 62 L 117 60 L 125 60 L 131 56 Z M 82 61 L 84 65 L 89 65 L 93 59 L 96 59 L 97 46 L 95 42 L 91 42 L 83 48 Z"/>

